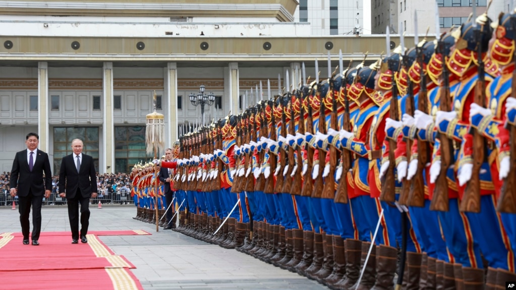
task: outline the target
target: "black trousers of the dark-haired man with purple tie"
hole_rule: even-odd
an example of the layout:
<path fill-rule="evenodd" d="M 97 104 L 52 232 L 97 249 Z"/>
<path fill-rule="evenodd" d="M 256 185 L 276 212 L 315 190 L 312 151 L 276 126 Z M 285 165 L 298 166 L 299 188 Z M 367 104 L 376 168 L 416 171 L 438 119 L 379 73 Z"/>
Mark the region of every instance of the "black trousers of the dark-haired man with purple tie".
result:
<path fill-rule="evenodd" d="M 14 200 L 12 201 L 14 202 Z M 33 208 L 33 232 L 31 239 L 39 239 L 41 233 L 41 204 L 43 203 L 43 195 L 34 196 L 32 190 L 29 189 L 29 194 L 26 197 L 18 197 L 18 205 L 20 213 L 20 224 L 22 225 L 23 239 L 29 239 L 30 231 L 30 206 Z"/>

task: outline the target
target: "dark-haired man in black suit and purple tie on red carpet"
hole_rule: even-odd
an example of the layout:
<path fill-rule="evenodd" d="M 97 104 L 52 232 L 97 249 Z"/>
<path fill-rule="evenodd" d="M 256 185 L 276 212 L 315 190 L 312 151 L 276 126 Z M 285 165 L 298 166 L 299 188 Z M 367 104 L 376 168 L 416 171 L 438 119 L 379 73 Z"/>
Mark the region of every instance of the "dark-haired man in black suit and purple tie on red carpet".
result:
<path fill-rule="evenodd" d="M 20 223 L 22 225 L 23 245 L 29 244 L 29 214 L 33 207 L 32 245 L 39 246 L 41 232 L 41 205 L 43 195 L 50 197 L 52 172 L 49 155 L 38 149 L 39 135 L 29 133 L 25 137 L 27 150 L 17 152 L 11 169 L 11 196 L 18 194 Z M 43 177 L 43 173 L 45 176 Z M 14 202 L 14 201 L 13 201 Z"/>

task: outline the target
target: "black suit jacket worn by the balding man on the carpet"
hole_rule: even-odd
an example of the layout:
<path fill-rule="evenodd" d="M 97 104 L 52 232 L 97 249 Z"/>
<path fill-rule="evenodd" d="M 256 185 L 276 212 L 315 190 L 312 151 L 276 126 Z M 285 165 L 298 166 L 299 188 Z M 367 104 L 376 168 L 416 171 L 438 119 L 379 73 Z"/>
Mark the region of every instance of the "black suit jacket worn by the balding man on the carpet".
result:
<path fill-rule="evenodd" d="M 70 154 L 62 158 L 61 169 L 59 170 L 59 193 L 65 192 L 66 198 L 75 197 L 77 189 L 85 198 L 91 197 L 91 192 L 98 192 L 96 187 L 95 166 L 93 165 L 93 157 L 83 153 L 82 162 L 80 163 L 80 171 L 74 160 L 75 154 Z"/>

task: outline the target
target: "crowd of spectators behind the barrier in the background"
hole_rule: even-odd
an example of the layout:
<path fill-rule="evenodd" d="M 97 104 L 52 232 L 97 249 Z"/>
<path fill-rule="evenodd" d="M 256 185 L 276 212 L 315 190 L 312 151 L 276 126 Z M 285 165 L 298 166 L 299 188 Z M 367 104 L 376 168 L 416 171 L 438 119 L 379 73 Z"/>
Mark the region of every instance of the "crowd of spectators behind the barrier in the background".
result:
<path fill-rule="evenodd" d="M 10 172 L 0 174 L 0 206 L 12 205 L 13 198 L 9 194 L 10 189 Z M 66 204 L 66 199 L 58 196 L 59 176 L 52 177 L 52 194 L 49 200 L 43 204 Z M 125 173 L 97 173 L 98 198 L 92 203 L 118 203 L 127 204 L 131 201 L 131 180 L 129 175 Z M 18 204 L 17 198 L 14 202 Z"/>

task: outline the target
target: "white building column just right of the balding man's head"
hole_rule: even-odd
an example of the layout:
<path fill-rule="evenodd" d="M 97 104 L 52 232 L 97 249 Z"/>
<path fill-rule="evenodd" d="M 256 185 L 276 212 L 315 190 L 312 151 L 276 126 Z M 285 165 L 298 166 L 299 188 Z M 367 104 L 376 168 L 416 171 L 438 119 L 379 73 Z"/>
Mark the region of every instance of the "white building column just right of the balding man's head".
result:
<path fill-rule="evenodd" d="M 104 94 L 104 122 L 102 136 L 104 139 L 102 145 L 103 158 L 102 162 L 106 173 L 115 172 L 115 127 L 113 124 L 113 63 L 104 62 L 103 67 L 103 94 Z"/>

